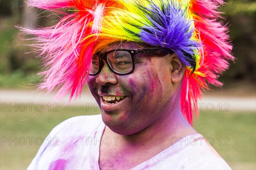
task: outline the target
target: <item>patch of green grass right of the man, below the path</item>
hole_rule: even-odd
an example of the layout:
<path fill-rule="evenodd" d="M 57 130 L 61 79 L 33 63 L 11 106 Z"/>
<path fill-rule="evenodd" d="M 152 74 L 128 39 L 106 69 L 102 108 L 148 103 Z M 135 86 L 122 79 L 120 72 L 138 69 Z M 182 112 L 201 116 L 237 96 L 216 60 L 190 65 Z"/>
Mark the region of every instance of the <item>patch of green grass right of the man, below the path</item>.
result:
<path fill-rule="evenodd" d="M 256 168 L 255 113 L 203 112 L 194 127 L 232 169 Z"/>

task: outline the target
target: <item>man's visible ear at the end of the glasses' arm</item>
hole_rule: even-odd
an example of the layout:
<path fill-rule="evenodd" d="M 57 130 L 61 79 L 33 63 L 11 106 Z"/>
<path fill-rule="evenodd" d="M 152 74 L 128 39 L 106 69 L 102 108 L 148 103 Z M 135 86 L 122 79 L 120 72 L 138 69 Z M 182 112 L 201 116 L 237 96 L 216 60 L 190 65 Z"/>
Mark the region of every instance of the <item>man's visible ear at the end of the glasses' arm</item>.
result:
<path fill-rule="evenodd" d="M 185 68 L 176 54 L 172 56 L 172 82 L 180 82 L 183 78 Z"/>

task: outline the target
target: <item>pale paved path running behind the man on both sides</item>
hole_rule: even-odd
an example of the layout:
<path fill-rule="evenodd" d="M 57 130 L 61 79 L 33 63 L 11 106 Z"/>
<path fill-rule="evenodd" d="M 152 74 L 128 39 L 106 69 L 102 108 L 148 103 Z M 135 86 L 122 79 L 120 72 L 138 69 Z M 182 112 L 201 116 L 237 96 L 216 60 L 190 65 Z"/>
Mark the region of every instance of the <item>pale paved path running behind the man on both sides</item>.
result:
<path fill-rule="evenodd" d="M 85 95 L 86 94 L 86 95 Z M 3 103 L 54 103 L 53 94 L 46 95 L 38 91 L 26 90 L 6 90 L 0 89 L 0 102 L 1 107 Z M 68 97 L 65 97 L 60 102 L 61 105 L 67 104 Z M 77 106 L 92 106 L 96 105 L 96 101 L 90 92 L 81 95 L 81 99 L 78 101 L 72 101 L 68 105 Z M 198 109 L 200 111 L 254 111 L 256 112 L 256 97 L 228 97 L 228 96 L 205 96 L 198 101 Z"/>

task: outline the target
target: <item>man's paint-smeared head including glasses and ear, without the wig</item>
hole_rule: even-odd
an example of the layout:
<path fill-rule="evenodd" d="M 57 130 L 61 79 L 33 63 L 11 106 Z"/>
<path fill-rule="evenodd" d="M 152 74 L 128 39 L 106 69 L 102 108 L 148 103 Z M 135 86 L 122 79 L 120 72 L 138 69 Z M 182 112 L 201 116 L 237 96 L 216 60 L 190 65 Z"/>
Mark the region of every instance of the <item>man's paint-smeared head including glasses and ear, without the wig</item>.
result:
<path fill-rule="evenodd" d="M 104 57 L 103 61 L 99 59 Z M 180 100 L 184 74 L 184 66 L 173 51 L 147 48 L 135 42 L 116 42 L 99 56 L 94 54 L 92 63 L 88 86 L 102 110 L 103 122 L 110 130 L 132 135 L 156 126 L 157 122 L 161 126 L 164 122 L 173 126 L 175 121 L 188 127 L 180 108 L 172 107 Z M 195 132 L 191 127 L 192 131 Z M 174 130 L 168 133 L 172 132 L 175 133 Z"/>

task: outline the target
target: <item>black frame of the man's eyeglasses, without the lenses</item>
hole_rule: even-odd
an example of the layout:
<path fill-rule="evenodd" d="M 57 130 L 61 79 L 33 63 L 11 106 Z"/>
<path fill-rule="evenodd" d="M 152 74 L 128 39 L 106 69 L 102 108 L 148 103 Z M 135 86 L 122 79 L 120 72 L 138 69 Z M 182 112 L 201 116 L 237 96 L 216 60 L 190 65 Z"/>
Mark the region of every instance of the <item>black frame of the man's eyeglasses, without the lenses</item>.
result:
<path fill-rule="evenodd" d="M 156 51 L 156 50 L 158 50 L 157 52 L 159 52 L 160 50 L 165 50 L 166 53 L 164 53 L 164 55 L 157 55 L 156 52 L 154 54 L 152 54 L 152 51 Z M 111 67 L 110 63 L 108 62 L 108 54 L 110 54 L 113 51 L 127 51 L 127 52 L 129 52 L 129 54 L 131 55 L 131 61 L 132 61 L 132 70 L 131 71 L 129 71 L 127 73 L 119 73 Z M 148 54 L 150 52 L 151 52 L 151 54 Z M 110 70 L 113 71 L 113 73 L 115 73 L 117 75 L 128 75 L 128 74 L 131 74 L 135 70 L 135 56 L 137 54 L 140 54 L 140 55 L 146 54 L 148 56 L 154 56 L 154 57 L 164 57 L 167 54 L 174 54 L 174 53 L 175 53 L 174 51 L 166 49 L 166 48 L 115 49 L 115 50 L 107 51 L 105 53 L 97 52 L 93 55 L 96 55 L 99 58 L 99 70 L 95 74 L 91 74 L 91 73 L 89 73 L 89 74 L 90 74 L 90 76 L 98 75 L 102 71 L 102 68 L 104 67 L 103 60 L 105 60 L 105 62 L 108 65 L 108 68 L 110 68 Z"/>

